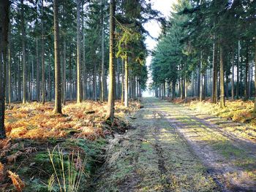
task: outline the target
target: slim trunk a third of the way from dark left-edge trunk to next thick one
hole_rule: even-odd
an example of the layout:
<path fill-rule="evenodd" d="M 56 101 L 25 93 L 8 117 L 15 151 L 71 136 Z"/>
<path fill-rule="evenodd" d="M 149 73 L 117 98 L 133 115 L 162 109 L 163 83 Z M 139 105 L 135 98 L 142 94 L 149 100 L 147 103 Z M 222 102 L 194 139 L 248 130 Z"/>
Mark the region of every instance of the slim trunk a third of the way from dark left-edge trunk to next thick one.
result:
<path fill-rule="evenodd" d="M 26 50 L 25 50 L 25 21 L 24 21 L 24 4 L 21 0 L 21 34 L 22 34 L 22 82 L 23 82 L 23 104 L 26 103 Z"/>

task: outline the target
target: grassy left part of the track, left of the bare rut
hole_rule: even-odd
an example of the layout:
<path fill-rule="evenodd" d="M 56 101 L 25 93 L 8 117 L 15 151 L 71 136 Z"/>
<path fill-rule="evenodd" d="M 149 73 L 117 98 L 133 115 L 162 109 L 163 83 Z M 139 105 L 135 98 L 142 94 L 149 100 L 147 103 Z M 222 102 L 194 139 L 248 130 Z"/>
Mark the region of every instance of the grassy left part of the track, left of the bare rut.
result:
<path fill-rule="evenodd" d="M 125 135 L 129 139 L 120 138 L 115 142 L 119 145 L 111 145 L 113 152 L 98 191 L 218 191 L 206 168 L 167 120 L 148 102 L 143 105 L 132 120 L 137 128 Z"/>

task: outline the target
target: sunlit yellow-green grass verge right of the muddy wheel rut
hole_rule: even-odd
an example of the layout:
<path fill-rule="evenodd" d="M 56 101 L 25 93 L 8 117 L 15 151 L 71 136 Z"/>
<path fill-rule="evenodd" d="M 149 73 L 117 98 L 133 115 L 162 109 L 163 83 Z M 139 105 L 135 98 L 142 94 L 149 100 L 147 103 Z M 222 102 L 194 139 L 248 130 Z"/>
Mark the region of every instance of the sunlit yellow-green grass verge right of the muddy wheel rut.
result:
<path fill-rule="evenodd" d="M 186 115 L 184 112 L 188 112 L 190 115 L 193 114 L 202 119 L 208 120 L 210 123 L 216 123 L 219 128 L 223 131 L 228 131 L 233 134 L 238 134 L 240 137 L 245 137 L 247 139 L 255 140 L 254 134 L 255 125 L 252 124 L 252 120 L 254 114 L 250 111 L 253 107 L 251 101 L 227 101 L 227 106 L 225 109 L 219 109 L 218 104 L 211 104 L 210 101 L 190 101 L 186 104 L 175 104 L 169 109 L 169 112 L 175 115 L 176 119 L 183 123 L 182 130 L 189 134 L 191 132 L 191 138 L 195 142 L 205 142 L 207 145 L 211 146 L 211 148 L 218 154 L 222 155 L 226 159 L 227 162 L 233 164 L 234 166 L 238 166 L 244 170 L 244 174 L 247 174 L 250 180 L 256 180 L 256 159 L 254 156 L 249 155 L 246 151 L 246 147 L 236 147 L 236 143 L 230 140 L 228 137 L 223 136 L 218 131 L 215 131 L 212 128 L 205 126 L 203 123 L 192 119 L 189 115 Z M 180 112 L 178 112 L 178 110 Z M 166 108 L 168 111 L 168 109 Z M 192 110 L 192 111 L 191 111 Z M 249 112 L 247 112 L 247 110 Z M 241 115 L 238 114 L 240 112 Z M 175 113 L 176 112 L 176 113 Z M 243 115 L 246 114 L 246 115 Z M 209 117 L 209 115 L 211 115 Z M 219 115 L 222 118 L 214 118 L 212 115 Z M 244 117 L 246 118 L 247 123 L 245 125 L 238 123 L 228 123 L 226 119 L 230 117 L 233 118 L 236 122 L 244 122 Z M 236 175 L 234 175 L 236 177 Z"/>

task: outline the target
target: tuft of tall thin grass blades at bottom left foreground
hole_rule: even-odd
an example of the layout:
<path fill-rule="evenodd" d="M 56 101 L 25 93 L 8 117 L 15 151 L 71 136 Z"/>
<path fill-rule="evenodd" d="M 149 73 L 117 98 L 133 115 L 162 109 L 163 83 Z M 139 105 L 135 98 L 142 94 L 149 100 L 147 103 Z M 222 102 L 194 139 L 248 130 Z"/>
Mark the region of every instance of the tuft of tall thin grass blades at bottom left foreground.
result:
<path fill-rule="evenodd" d="M 55 191 L 54 184 L 58 183 L 58 191 L 60 192 L 77 192 L 80 188 L 80 183 L 83 176 L 86 174 L 86 158 L 82 160 L 80 152 L 67 155 L 65 161 L 64 152 L 59 145 L 53 148 L 52 151 L 48 149 L 50 162 L 53 166 L 53 174 L 48 180 L 48 191 Z"/>

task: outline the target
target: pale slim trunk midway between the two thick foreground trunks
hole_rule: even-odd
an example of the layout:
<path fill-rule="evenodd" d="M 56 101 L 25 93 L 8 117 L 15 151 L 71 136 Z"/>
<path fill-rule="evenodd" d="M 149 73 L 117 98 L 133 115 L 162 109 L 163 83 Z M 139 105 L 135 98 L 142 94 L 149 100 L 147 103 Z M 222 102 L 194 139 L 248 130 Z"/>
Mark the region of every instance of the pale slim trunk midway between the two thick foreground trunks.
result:
<path fill-rule="evenodd" d="M 80 0 L 77 0 L 77 103 L 82 101 L 81 51 L 80 51 Z"/>

